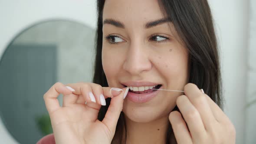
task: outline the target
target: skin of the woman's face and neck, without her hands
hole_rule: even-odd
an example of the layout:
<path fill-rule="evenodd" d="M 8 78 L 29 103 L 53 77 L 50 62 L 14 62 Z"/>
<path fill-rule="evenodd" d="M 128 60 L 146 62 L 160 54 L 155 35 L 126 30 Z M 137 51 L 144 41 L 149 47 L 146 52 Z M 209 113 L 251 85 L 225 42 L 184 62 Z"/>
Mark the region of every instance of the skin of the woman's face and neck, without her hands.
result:
<path fill-rule="evenodd" d="M 174 27 L 170 22 L 145 27 L 148 22 L 165 18 L 157 6 L 157 0 L 106 0 L 103 21 L 112 19 L 124 25 L 103 24 L 103 37 L 114 35 L 112 39 L 103 38 L 102 45 L 102 65 L 109 86 L 120 88 L 121 82 L 143 80 L 162 84 L 163 89 L 183 90 L 187 84 L 188 52 Z M 181 94 L 161 91 L 142 104 L 125 99 L 128 144 L 159 144 L 164 140 L 168 116 Z"/>

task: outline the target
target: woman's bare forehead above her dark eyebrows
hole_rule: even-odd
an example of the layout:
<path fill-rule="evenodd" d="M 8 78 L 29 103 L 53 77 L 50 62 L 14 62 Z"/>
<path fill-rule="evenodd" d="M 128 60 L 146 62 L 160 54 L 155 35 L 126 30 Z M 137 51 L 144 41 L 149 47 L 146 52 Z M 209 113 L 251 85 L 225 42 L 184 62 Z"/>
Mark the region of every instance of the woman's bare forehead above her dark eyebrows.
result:
<path fill-rule="evenodd" d="M 103 21 L 115 19 L 123 23 L 147 23 L 164 18 L 158 0 L 106 0 Z"/>

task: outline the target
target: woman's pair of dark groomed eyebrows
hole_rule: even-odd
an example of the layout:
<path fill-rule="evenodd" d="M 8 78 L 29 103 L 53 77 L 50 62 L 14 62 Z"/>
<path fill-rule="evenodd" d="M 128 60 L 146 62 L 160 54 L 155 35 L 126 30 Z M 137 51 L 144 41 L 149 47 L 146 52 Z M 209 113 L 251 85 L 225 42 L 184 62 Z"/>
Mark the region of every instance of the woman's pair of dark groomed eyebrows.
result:
<path fill-rule="evenodd" d="M 169 19 L 169 18 L 162 18 L 162 19 L 159 19 L 159 20 L 150 21 L 150 22 L 146 23 L 144 25 L 144 27 L 146 29 L 149 29 L 151 27 L 158 26 L 158 25 L 161 25 L 161 24 L 164 24 L 164 23 L 167 23 L 167 22 L 171 22 L 171 19 Z M 114 19 L 105 19 L 103 21 L 103 25 L 104 24 L 111 24 L 113 26 L 116 26 L 116 27 L 119 27 L 119 28 L 123 28 L 123 29 L 125 28 L 125 25 L 123 23 L 121 23 L 118 20 L 114 20 Z"/>

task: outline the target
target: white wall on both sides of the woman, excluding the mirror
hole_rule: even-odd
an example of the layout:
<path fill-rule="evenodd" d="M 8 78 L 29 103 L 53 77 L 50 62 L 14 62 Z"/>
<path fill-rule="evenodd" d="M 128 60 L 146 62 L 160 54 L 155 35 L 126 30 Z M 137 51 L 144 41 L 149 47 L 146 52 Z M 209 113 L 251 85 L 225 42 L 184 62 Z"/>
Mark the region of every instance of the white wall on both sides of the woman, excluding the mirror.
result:
<path fill-rule="evenodd" d="M 209 0 L 209 3 L 220 40 L 225 112 L 236 127 L 236 143 L 244 144 L 249 4 L 248 0 Z M 95 0 L 0 0 L 0 56 L 21 30 L 49 18 L 75 20 L 95 28 Z M 0 140 L 14 143 L 1 122 Z"/>

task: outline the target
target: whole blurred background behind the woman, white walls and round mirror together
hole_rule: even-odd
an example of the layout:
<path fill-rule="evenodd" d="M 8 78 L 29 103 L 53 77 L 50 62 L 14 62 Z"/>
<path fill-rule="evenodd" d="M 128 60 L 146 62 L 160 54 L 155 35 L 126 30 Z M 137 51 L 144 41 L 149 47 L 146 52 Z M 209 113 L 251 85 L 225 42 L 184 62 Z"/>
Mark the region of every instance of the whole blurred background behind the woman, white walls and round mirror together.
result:
<path fill-rule="evenodd" d="M 256 144 L 256 1 L 208 1 L 224 112 L 236 144 Z M 0 0 L 0 144 L 52 133 L 43 94 L 55 82 L 92 82 L 96 19 L 95 0 Z"/>

